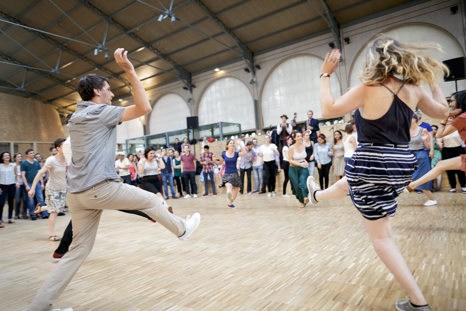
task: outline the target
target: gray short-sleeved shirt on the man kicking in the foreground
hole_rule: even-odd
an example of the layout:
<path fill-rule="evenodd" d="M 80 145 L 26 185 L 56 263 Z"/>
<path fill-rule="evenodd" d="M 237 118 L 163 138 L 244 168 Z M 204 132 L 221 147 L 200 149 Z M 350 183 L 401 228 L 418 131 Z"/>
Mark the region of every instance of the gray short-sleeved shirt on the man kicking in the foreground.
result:
<path fill-rule="evenodd" d="M 117 125 L 125 107 L 77 102 L 68 122 L 72 160 L 66 190 L 86 190 L 107 179 L 118 179 L 115 171 Z"/>

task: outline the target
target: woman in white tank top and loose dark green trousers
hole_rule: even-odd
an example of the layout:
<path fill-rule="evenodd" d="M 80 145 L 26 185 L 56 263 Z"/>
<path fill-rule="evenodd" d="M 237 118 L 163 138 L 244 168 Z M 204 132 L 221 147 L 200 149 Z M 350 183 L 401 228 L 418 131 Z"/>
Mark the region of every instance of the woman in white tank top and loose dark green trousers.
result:
<path fill-rule="evenodd" d="M 289 146 L 288 161 L 290 168 L 288 178 L 291 183 L 291 189 L 296 195 L 296 199 L 301 203 L 300 207 L 304 207 L 308 202 L 308 187 L 306 180 L 309 176 L 308 162 L 306 159 L 306 146 L 302 143 L 302 133 L 295 133 L 296 143 Z"/>

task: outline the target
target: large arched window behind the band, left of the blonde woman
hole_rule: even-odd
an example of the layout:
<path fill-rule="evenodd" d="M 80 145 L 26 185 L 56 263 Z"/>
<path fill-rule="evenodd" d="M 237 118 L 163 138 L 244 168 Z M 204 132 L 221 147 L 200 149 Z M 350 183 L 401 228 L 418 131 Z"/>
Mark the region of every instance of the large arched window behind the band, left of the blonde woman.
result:
<path fill-rule="evenodd" d="M 296 55 L 279 63 L 267 77 L 262 96 L 264 126 L 279 124 L 282 114 L 298 121 L 307 118 L 312 110 L 314 117 L 321 117 L 319 89 L 323 59 L 314 55 Z M 340 83 L 334 73 L 330 76 L 332 94 L 340 97 Z"/>

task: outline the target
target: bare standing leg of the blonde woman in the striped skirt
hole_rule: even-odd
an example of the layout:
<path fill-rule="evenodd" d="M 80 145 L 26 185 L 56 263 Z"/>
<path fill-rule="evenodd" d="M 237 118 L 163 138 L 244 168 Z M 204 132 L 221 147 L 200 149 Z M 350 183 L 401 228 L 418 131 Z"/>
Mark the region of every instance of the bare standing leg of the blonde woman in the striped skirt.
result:
<path fill-rule="evenodd" d="M 400 250 L 391 237 L 390 217 L 368 220 L 361 215 L 361 218 L 374 250 L 406 293 L 408 293 L 411 302 L 417 305 L 427 304 L 406 261 L 404 261 L 403 255 L 401 255 Z"/>

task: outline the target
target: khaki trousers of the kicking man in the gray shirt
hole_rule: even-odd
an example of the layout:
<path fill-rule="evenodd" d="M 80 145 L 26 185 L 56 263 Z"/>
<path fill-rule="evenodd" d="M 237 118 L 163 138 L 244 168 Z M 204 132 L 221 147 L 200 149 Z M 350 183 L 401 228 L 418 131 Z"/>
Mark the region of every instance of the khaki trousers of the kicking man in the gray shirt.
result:
<path fill-rule="evenodd" d="M 104 180 L 87 190 L 68 193 L 67 202 L 73 222 L 73 245 L 52 270 L 34 297 L 29 311 L 53 309 L 52 303 L 65 290 L 94 246 L 102 210 L 137 209 L 176 236 L 183 235 L 186 229 L 185 220 L 171 214 L 157 195 L 124 184 L 121 179 Z"/>

